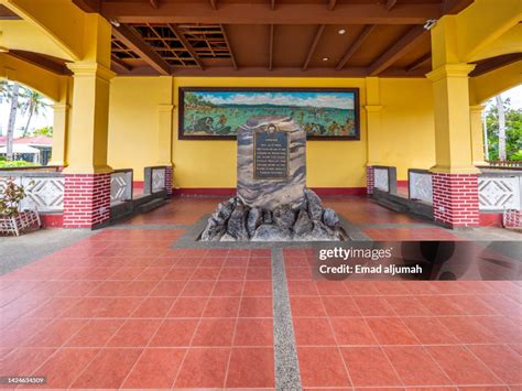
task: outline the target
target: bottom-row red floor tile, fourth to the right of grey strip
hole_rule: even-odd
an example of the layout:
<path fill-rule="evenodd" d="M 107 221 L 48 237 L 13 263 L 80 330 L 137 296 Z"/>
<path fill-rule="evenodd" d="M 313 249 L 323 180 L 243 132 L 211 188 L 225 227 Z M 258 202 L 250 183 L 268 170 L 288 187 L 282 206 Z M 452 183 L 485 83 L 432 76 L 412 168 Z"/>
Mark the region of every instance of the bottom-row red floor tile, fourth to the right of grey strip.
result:
<path fill-rule="evenodd" d="M 501 381 L 469 350 L 461 346 L 428 346 L 425 349 L 458 385 L 496 385 Z"/>

